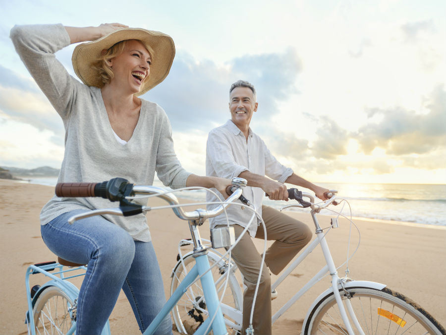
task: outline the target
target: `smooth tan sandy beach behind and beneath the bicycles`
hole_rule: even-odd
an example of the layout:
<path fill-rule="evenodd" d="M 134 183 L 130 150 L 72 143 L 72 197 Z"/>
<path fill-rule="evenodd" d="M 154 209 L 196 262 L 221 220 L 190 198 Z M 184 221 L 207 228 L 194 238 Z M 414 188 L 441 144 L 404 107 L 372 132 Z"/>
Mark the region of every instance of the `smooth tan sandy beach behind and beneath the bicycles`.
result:
<path fill-rule="evenodd" d="M 42 241 L 39 213 L 54 194 L 53 187 L 0 179 L 1 299 L 0 333 L 26 334 L 25 270 L 28 265 L 56 260 Z M 162 205 L 151 200 L 150 205 Z M 112 207 L 112 205 L 111 205 Z M 309 214 L 289 212 L 313 227 Z M 189 238 L 185 221 L 170 209 L 147 214 L 153 243 L 161 266 L 166 295 L 170 273 L 176 263 L 177 243 Z M 325 222 L 327 221 L 327 222 Z M 330 220 L 320 218 L 321 226 Z M 328 235 L 329 246 L 337 265 L 345 261 L 349 224 L 340 220 L 340 228 Z M 349 277 L 386 283 L 388 287 L 410 297 L 444 327 L 446 326 L 446 227 L 414 224 L 390 224 L 368 219 L 355 219 L 361 232 L 359 250 L 349 261 Z M 202 227 L 202 237 L 209 237 L 209 226 Z M 350 252 L 356 248 L 354 230 Z M 262 241 L 257 243 L 259 250 Z M 278 288 L 273 313 L 323 267 L 322 253 L 316 249 Z M 340 268 L 339 275 L 344 274 Z M 273 276 L 275 278 L 275 276 Z M 274 280 L 273 278 L 273 280 Z M 34 283 L 44 279 L 32 278 Z M 79 280 L 74 280 L 79 283 Z M 300 334 L 302 321 L 311 302 L 330 285 L 328 277 L 320 281 L 273 325 L 274 334 Z M 130 305 L 121 294 L 110 318 L 112 334 L 140 334 Z"/>

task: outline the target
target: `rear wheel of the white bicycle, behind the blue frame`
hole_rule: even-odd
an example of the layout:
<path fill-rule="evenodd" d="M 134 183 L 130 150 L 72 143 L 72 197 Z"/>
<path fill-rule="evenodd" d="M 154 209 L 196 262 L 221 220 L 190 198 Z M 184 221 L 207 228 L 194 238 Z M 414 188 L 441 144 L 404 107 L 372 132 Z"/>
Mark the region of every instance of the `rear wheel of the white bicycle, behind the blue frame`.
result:
<path fill-rule="evenodd" d="M 210 265 L 214 265 L 218 262 L 220 257 L 217 255 L 208 254 L 208 260 Z M 224 265 L 223 261 L 220 261 L 221 265 Z M 184 258 L 184 266 L 187 272 L 195 265 L 195 260 L 192 255 L 187 255 Z M 220 266 L 213 268 L 212 274 L 214 281 L 217 281 L 222 276 L 226 276 L 226 271 L 223 269 L 221 271 Z M 226 267 L 227 269 L 227 267 Z M 223 272 L 223 273 L 222 273 Z M 181 264 L 179 264 L 172 276 L 172 281 L 170 284 L 170 294 L 172 294 L 177 288 L 178 284 L 185 277 L 186 273 Z M 228 284 L 223 297 L 222 303 L 233 307 L 234 309 L 241 310 L 242 308 L 242 293 L 240 290 L 240 285 L 237 281 L 235 275 L 230 272 Z M 217 292 L 219 299 L 221 298 L 221 293 L 223 292 L 224 280 L 222 280 L 217 285 Z M 207 318 L 206 301 L 201 301 L 203 297 L 203 289 L 201 287 L 200 280 L 197 280 L 181 297 L 178 303 L 172 309 L 172 317 L 177 331 L 180 334 L 193 334 L 195 330 L 203 323 Z M 228 334 L 238 334 L 238 331 L 234 328 L 228 326 L 228 322 L 234 322 L 227 315 L 223 313 L 223 317 L 226 323 L 226 329 Z"/>

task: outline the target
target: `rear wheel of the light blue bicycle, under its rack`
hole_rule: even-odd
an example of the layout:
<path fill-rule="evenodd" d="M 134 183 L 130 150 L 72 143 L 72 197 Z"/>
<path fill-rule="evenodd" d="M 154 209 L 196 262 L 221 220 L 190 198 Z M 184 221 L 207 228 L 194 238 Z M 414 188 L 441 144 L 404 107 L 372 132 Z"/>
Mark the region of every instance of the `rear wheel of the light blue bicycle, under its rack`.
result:
<path fill-rule="evenodd" d="M 36 300 L 33 308 L 36 334 L 66 334 L 73 324 L 71 298 L 59 287 L 48 286 Z"/>

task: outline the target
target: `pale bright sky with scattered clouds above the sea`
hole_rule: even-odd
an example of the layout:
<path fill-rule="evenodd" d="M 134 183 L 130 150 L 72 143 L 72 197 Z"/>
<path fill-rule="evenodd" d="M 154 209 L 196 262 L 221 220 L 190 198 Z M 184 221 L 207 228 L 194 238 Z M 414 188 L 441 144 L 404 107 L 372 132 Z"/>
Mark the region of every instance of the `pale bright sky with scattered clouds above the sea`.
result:
<path fill-rule="evenodd" d="M 183 167 L 205 173 L 229 87 L 254 84 L 251 129 L 312 182 L 446 183 L 446 1 L 0 0 L 0 166 L 60 167 L 62 122 L 15 53 L 15 24 L 119 22 L 170 35 L 166 111 Z M 56 53 L 75 76 L 74 45 Z"/>

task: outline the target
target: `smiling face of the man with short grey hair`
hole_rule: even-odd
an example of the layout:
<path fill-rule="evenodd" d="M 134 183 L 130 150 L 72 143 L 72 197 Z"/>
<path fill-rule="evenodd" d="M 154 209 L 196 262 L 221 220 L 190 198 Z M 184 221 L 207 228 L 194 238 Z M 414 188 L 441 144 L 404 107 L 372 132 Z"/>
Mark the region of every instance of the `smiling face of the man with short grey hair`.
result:
<path fill-rule="evenodd" d="M 249 87 L 236 87 L 229 96 L 229 111 L 231 120 L 237 127 L 247 128 L 254 112 L 257 111 L 257 102 Z"/>

